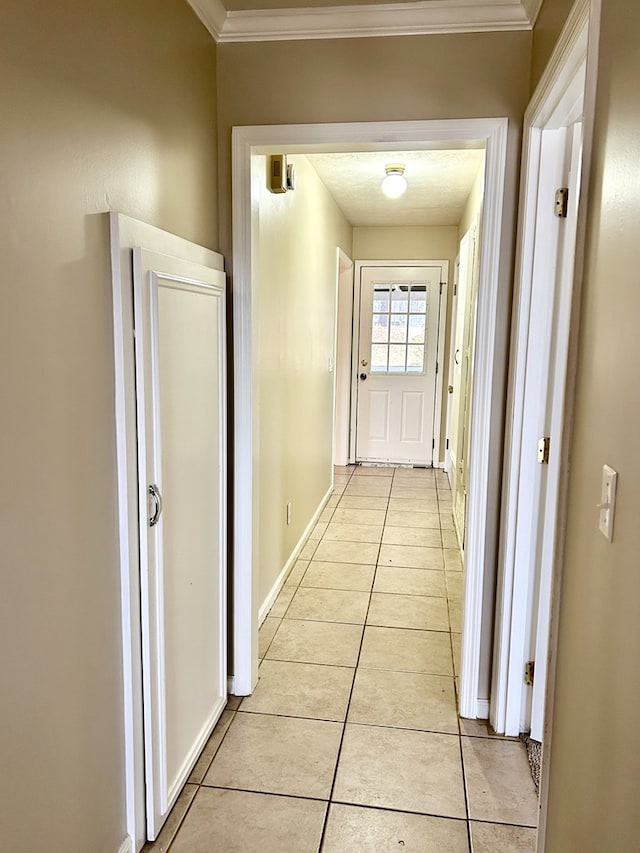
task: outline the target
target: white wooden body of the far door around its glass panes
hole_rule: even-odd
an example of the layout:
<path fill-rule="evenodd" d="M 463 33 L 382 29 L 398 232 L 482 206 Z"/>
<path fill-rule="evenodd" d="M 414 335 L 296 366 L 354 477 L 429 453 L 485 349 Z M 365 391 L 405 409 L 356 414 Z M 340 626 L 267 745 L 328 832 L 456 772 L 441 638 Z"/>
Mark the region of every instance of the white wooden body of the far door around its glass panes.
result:
<path fill-rule="evenodd" d="M 436 358 L 438 352 L 438 329 L 440 313 L 440 282 L 444 280 L 443 265 L 396 266 L 359 265 L 359 332 L 358 358 L 354 365 L 354 381 L 357 387 L 356 461 L 395 462 L 398 464 L 432 465 L 434 441 L 434 416 L 436 399 Z M 393 372 L 391 365 L 376 372 L 372 360 L 372 317 L 376 297 L 388 294 L 393 301 L 402 294 L 409 301 L 409 291 L 401 287 L 425 288 L 426 308 L 424 351 L 419 372 L 409 373 L 399 368 Z M 413 290 L 411 291 L 413 293 Z M 422 296 L 423 291 L 417 291 Z M 386 301 L 386 300 L 385 300 Z M 384 315 L 377 315 L 383 317 Z M 386 340 L 379 343 L 383 349 L 397 347 L 399 354 L 411 344 L 393 343 L 394 319 L 399 322 L 421 314 L 388 315 L 391 328 Z M 382 338 L 380 339 L 382 341 Z M 411 330 L 405 329 L 404 337 L 411 340 Z M 364 379 L 362 377 L 365 377 Z"/>

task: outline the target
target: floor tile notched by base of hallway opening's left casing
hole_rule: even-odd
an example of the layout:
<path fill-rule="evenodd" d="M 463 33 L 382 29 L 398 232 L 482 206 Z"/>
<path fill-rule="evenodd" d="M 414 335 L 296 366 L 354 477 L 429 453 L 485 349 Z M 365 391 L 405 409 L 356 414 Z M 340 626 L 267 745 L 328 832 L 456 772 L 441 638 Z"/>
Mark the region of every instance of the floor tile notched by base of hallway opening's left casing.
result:
<path fill-rule="evenodd" d="M 242 711 L 344 720 L 353 682 L 353 669 L 313 663 L 263 660 L 260 679 Z"/>

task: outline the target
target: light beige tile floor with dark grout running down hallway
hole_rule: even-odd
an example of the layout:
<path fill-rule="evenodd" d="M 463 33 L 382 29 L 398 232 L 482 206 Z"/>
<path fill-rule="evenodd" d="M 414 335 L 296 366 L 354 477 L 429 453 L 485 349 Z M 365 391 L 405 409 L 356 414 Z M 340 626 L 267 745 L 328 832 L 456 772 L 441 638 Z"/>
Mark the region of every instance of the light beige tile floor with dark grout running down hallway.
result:
<path fill-rule="evenodd" d="M 532 853 L 524 745 L 457 714 L 462 563 L 442 472 L 335 492 L 146 853 Z"/>

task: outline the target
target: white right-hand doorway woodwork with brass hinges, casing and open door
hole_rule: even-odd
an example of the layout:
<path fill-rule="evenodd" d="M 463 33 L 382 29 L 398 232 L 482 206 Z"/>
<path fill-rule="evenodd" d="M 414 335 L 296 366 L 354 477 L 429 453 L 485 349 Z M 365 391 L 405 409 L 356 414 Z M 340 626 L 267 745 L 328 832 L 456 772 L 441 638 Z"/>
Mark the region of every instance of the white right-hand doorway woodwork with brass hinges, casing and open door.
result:
<path fill-rule="evenodd" d="M 559 517 L 568 458 L 563 418 L 584 187 L 579 120 L 588 32 L 589 3 L 579 2 L 525 115 L 491 722 L 509 735 L 531 728 L 539 740 L 548 732 L 546 670 L 556 641 L 550 640 L 552 591 L 557 595 L 563 536 Z M 570 188 L 566 219 L 553 212 L 561 186 Z M 548 466 L 536 459 L 544 436 L 551 437 Z M 525 662 L 533 659 L 532 691 L 523 675 Z"/>

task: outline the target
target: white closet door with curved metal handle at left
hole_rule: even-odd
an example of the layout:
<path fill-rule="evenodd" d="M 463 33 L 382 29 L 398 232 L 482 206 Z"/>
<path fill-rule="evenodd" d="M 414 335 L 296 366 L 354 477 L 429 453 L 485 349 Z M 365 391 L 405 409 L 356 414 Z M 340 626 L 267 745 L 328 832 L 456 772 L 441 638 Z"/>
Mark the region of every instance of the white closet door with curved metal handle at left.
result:
<path fill-rule="evenodd" d="M 134 250 L 147 833 L 226 702 L 224 273 Z"/>

